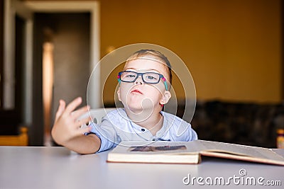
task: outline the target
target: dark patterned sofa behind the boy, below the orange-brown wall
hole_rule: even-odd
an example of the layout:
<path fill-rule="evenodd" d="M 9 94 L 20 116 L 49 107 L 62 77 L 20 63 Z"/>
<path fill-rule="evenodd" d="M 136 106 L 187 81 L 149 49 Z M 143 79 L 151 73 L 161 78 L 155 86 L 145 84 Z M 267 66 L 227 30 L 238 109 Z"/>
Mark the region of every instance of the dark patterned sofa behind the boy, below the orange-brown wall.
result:
<path fill-rule="evenodd" d="M 284 127 L 284 105 L 197 102 L 191 123 L 199 139 L 275 148 L 276 130 Z"/>

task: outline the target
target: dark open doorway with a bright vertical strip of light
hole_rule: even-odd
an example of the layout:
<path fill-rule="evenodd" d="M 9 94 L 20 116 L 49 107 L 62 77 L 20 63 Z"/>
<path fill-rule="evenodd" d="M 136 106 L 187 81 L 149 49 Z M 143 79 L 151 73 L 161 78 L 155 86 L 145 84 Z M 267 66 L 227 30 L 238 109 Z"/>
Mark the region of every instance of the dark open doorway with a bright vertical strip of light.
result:
<path fill-rule="evenodd" d="M 38 122 L 43 120 L 44 127 L 38 132 L 44 133 L 45 146 L 51 145 L 50 127 L 59 100 L 68 103 L 81 96 L 82 104 L 87 103 L 89 17 L 89 13 L 34 13 L 33 91 L 37 98 L 33 101 L 38 101 L 35 110 L 43 110 L 42 116 L 38 111 L 34 114 Z"/>

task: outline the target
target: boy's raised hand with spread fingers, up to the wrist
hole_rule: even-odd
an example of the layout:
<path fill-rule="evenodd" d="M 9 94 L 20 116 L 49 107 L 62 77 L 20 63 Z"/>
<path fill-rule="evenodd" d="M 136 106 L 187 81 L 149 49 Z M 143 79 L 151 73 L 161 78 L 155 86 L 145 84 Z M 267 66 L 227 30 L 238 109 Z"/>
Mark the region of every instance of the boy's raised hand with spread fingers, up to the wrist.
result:
<path fill-rule="evenodd" d="M 65 145 L 70 139 L 83 135 L 85 132 L 89 132 L 91 127 L 81 128 L 80 126 L 86 122 L 89 122 L 91 118 L 89 116 L 82 120 L 78 120 L 81 115 L 87 113 L 88 106 L 84 106 L 75 111 L 75 109 L 82 103 L 82 98 L 75 98 L 66 107 L 65 101 L 60 100 L 58 111 L 55 115 L 55 122 L 51 134 L 55 142 L 61 145 Z"/>

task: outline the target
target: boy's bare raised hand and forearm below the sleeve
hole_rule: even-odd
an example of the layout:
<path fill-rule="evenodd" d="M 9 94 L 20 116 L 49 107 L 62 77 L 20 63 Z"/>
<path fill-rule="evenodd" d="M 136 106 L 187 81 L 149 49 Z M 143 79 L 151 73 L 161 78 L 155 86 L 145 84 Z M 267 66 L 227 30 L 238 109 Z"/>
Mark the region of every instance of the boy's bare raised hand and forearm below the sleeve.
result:
<path fill-rule="evenodd" d="M 84 106 L 74 111 L 81 103 L 82 98 L 76 98 L 65 108 L 65 101 L 60 100 L 51 134 L 56 143 L 68 149 L 80 154 L 92 154 L 99 150 L 101 140 L 95 134 L 84 135 L 86 132 L 89 133 L 92 128 L 81 128 L 82 124 L 90 120 L 89 116 L 78 120 L 88 110 L 88 107 Z"/>

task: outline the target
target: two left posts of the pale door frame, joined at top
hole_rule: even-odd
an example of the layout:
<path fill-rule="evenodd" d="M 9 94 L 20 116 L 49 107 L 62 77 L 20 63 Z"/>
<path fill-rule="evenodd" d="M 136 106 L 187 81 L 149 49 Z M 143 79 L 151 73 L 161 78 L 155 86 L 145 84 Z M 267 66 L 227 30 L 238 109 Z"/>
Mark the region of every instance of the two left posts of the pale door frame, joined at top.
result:
<path fill-rule="evenodd" d="M 31 123 L 31 103 L 32 103 L 32 78 L 33 66 L 33 13 L 22 1 L 4 0 L 4 86 L 3 86 L 3 109 L 15 110 L 15 16 L 23 18 L 25 39 L 23 41 L 23 122 L 27 125 Z"/>

